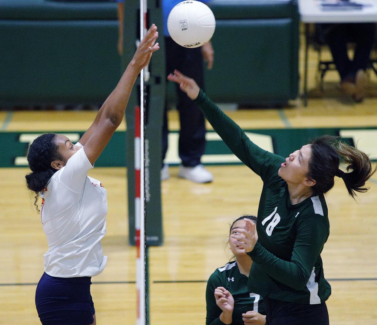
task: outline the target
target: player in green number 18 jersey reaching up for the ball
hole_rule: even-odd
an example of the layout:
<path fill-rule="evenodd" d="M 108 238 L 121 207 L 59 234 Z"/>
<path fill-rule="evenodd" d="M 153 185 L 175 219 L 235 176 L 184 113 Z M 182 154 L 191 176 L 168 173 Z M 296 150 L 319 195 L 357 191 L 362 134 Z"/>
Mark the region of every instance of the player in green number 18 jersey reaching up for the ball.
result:
<path fill-rule="evenodd" d="M 324 193 L 343 179 L 348 193 L 366 192 L 372 171 L 368 156 L 325 136 L 283 158 L 252 143 L 194 80 L 179 71 L 168 76 L 195 100 L 230 150 L 262 178 L 256 225 L 231 237 L 253 260 L 248 278 L 251 292 L 260 294 L 268 325 L 328 325 L 325 301 L 331 287 L 323 273 L 320 253 L 329 236 Z M 339 169 L 340 158 L 348 165 Z M 350 171 L 352 170 L 352 171 Z"/>

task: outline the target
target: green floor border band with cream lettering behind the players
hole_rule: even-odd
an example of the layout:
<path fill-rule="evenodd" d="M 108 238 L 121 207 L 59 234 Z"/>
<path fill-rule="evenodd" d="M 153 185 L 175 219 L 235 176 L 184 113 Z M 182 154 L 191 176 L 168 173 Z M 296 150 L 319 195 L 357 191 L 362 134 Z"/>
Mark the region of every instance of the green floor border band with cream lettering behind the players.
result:
<path fill-rule="evenodd" d="M 40 133 L 46 133 L 42 131 Z M 272 150 L 283 157 L 288 156 L 294 150 L 300 148 L 303 144 L 308 143 L 310 139 L 320 135 L 343 135 L 343 139 L 349 144 L 358 142 L 361 150 L 371 155 L 371 159 L 377 161 L 377 127 L 363 127 L 363 128 L 313 128 L 313 129 L 250 129 L 245 130 L 249 133 L 251 139 L 255 138 L 258 141 L 259 135 L 265 135 L 261 146 L 265 144 L 265 149 Z M 25 158 L 28 150 L 28 142 L 20 142 L 26 138 L 37 136 L 38 132 L 0 132 L 0 143 L 3 145 L 2 154 L 0 155 L 0 167 L 25 167 L 27 166 Z M 68 132 L 56 132 L 64 133 Z M 83 132 L 69 132 L 73 141 L 80 138 Z M 171 138 L 177 138 L 178 133 L 170 133 Z M 207 132 L 207 147 L 203 160 L 213 161 L 215 159 L 207 159 L 208 156 L 229 155 L 231 152 L 223 141 L 213 140 L 216 138 L 215 132 Z M 211 140 L 212 139 L 212 140 Z M 126 132 L 115 132 L 110 143 L 107 145 L 100 158 L 96 162 L 96 167 L 125 167 L 126 166 Z M 269 147 L 270 146 L 270 147 Z M 172 150 L 176 152 L 176 150 Z M 176 154 L 178 156 L 178 154 Z M 17 158 L 19 157 L 19 158 Z M 16 164 L 17 162 L 17 164 Z M 153 161 L 151 162 L 153 164 Z M 159 162 L 156 162 L 159 163 Z M 234 161 L 234 159 L 223 159 L 217 162 L 204 162 L 205 164 L 235 164 L 241 163 Z M 177 162 L 173 161 L 170 164 L 175 165 Z"/>

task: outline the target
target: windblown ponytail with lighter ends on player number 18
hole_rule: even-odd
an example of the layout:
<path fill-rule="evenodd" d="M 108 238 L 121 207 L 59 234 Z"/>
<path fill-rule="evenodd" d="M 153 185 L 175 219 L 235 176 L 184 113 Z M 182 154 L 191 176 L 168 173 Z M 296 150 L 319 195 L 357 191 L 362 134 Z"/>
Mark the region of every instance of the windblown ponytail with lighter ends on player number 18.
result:
<path fill-rule="evenodd" d="M 349 195 L 354 198 L 356 192 L 363 193 L 369 190 L 369 187 L 365 187 L 365 183 L 374 174 L 377 167 L 372 170 L 368 155 L 356 147 L 348 146 L 342 142 L 336 144 L 336 151 L 348 165 L 346 167 L 347 173 L 339 173 L 339 176 L 343 179 Z M 352 170 L 352 172 L 349 172 L 349 170 Z"/>

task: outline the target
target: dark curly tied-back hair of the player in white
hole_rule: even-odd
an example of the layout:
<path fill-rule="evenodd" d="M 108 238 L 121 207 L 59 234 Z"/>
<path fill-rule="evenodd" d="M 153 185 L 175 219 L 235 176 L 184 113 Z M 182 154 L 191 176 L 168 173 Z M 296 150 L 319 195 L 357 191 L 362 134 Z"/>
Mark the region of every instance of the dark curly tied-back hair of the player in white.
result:
<path fill-rule="evenodd" d="M 28 189 L 36 194 L 35 206 L 37 206 L 39 192 L 46 187 L 48 180 L 57 172 L 57 169 L 52 168 L 51 162 L 57 159 L 63 160 L 58 152 L 55 136 L 55 133 L 40 135 L 29 148 L 28 163 L 31 173 L 26 175 L 25 178 Z"/>

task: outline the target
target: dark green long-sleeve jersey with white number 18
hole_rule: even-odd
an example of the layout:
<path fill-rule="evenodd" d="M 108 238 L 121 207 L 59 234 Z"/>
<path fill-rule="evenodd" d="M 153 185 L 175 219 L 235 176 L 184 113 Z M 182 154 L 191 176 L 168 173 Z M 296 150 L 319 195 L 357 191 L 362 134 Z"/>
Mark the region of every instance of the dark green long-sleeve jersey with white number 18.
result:
<path fill-rule="evenodd" d="M 256 146 L 202 90 L 196 103 L 230 150 L 263 181 L 258 207 L 258 242 L 248 253 L 254 263 L 248 288 L 272 299 L 320 304 L 331 287 L 320 253 L 329 236 L 323 195 L 291 204 L 287 183 L 278 174 L 285 159 Z"/>

